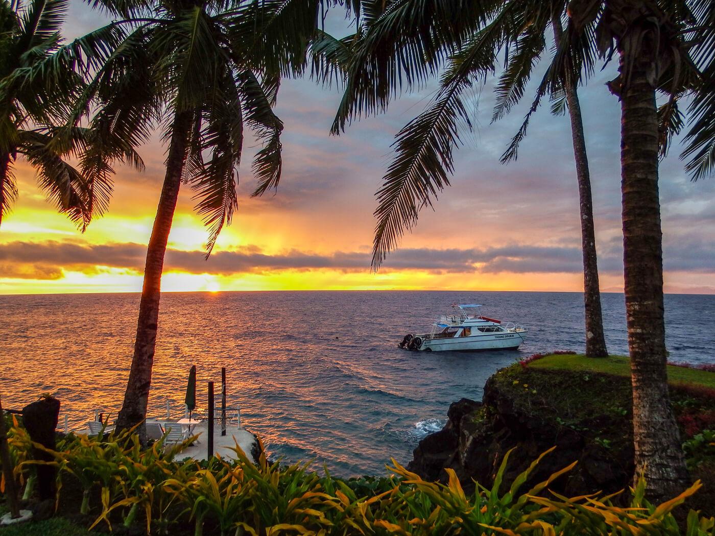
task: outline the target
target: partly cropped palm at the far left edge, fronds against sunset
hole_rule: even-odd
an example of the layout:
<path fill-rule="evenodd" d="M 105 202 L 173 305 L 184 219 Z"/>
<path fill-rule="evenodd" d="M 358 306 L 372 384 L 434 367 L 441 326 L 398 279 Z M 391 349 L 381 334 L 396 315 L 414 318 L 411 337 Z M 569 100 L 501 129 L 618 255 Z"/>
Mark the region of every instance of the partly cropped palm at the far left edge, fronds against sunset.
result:
<path fill-rule="evenodd" d="M 80 71 L 97 51 L 92 35 L 62 44 L 59 29 L 66 11 L 66 0 L 0 3 L 0 223 L 16 199 L 18 155 L 37 170 L 41 189 L 82 231 L 107 208 L 112 162 L 143 167 L 121 139 L 79 124 L 84 111 L 74 104 L 85 89 Z M 69 157 L 79 159 L 79 167 L 67 162 Z"/>

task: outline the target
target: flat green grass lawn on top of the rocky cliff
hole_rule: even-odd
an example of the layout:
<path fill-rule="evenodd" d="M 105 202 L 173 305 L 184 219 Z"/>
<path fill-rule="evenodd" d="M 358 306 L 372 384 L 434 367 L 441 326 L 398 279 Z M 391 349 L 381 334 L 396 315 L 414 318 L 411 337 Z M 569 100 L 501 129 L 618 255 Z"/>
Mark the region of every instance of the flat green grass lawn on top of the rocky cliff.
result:
<path fill-rule="evenodd" d="M 613 376 L 629 377 L 631 369 L 628 357 L 608 356 L 602 358 L 587 358 L 583 354 L 551 354 L 536 359 L 528 365 L 533 369 L 573 370 L 576 372 L 595 372 L 612 374 Z M 715 389 L 715 372 L 706 370 L 688 369 L 668 365 L 668 379 L 670 383 L 696 384 Z"/>

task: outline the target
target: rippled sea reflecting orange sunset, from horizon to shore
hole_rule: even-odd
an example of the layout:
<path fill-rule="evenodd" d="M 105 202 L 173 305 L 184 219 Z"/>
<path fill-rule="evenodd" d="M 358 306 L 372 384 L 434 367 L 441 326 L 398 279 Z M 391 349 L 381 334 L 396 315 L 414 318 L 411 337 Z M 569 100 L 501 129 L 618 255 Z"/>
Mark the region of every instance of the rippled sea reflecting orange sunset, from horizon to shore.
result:
<path fill-rule="evenodd" d="M 608 349 L 627 353 L 623 294 L 603 294 Z M 530 330 L 518 351 L 406 352 L 453 302 Z M 117 415 L 132 357 L 138 294 L 0 296 L 0 394 L 21 408 L 43 392 L 70 427 L 94 410 Z M 671 359 L 715 362 L 715 296 L 666 295 Z M 181 412 L 197 365 L 199 412 L 220 384 L 242 424 L 286 461 L 315 459 L 338 475 L 385 474 L 439 430 L 451 402 L 480 399 L 496 369 L 535 352 L 582 351 L 581 294 L 568 292 L 225 292 L 164 294 L 149 415 Z M 217 387 L 217 390 L 219 387 Z M 61 420 L 62 422 L 62 420 Z"/>

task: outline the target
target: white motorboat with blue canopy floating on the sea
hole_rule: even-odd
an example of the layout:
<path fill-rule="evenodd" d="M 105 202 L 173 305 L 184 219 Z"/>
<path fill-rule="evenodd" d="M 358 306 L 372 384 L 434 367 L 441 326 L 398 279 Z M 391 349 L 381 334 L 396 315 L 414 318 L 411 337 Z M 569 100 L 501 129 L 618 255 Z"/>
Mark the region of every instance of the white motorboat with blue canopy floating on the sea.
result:
<path fill-rule="evenodd" d="M 516 350 L 528 331 L 518 324 L 483 317 L 479 304 L 453 304 L 453 314 L 441 314 L 428 334 L 407 334 L 400 348 L 425 352 L 458 350 Z"/>

